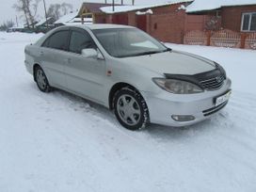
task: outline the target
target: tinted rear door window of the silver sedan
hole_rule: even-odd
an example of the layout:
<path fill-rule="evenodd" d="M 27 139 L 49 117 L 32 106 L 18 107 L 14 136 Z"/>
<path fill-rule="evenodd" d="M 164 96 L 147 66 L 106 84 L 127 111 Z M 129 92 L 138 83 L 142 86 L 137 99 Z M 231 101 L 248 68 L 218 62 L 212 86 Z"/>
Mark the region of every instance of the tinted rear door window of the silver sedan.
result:
<path fill-rule="evenodd" d="M 69 31 L 59 31 L 50 37 L 48 46 L 53 49 L 66 50 Z M 47 40 L 46 40 L 47 42 Z"/>

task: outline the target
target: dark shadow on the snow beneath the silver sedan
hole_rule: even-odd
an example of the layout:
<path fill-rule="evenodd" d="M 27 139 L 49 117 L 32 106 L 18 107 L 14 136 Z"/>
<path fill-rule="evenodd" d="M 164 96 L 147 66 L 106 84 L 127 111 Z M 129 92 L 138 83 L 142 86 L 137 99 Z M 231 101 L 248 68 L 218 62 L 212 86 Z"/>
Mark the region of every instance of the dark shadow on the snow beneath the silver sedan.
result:
<path fill-rule="evenodd" d="M 79 96 L 73 95 L 72 93 L 56 88 L 51 94 L 54 97 L 62 97 L 64 101 L 68 100 L 68 102 L 65 103 L 68 103 L 68 107 L 70 107 L 70 109 L 72 110 L 77 111 L 77 113 L 85 113 L 85 116 L 87 115 L 87 113 L 90 113 L 100 117 L 103 120 L 108 120 L 111 124 L 113 124 L 114 128 L 123 130 L 123 132 L 129 132 L 129 135 L 146 135 L 157 140 L 174 140 L 191 136 L 198 136 L 199 133 L 203 134 L 203 132 L 207 132 L 209 127 L 213 127 L 211 125 L 213 125 L 214 120 L 210 119 L 204 120 L 192 126 L 178 128 L 150 124 L 142 130 L 132 132 L 125 130 L 120 125 L 118 120 L 116 120 L 114 113 L 101 104 L 93 103 L 91 101 L 88 101 L 87 99 L 81 98 Z M 79 109 L 77 110 L 77 108 Z M 215 117 L 213 118 L 215 119 Z"/>

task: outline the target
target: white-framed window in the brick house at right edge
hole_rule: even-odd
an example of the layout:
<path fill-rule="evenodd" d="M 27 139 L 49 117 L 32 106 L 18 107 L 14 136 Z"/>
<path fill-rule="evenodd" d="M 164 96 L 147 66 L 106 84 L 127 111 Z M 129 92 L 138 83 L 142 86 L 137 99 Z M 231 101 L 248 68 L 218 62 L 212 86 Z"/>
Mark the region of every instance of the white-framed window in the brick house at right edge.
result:
<path fill-rule="evenodd" d="M 256 31 L 256 12 L 243 13 L 242 31 Z"/>

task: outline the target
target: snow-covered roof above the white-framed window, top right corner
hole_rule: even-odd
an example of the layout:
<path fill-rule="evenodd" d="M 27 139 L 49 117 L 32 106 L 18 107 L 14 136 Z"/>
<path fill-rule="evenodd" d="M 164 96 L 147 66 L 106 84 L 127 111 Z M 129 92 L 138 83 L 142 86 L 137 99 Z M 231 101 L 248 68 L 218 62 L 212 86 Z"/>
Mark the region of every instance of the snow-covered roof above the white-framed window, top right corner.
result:
<path fill-rule="evenodd" d="M 256 5 L 256 0 L 195 0 L 186 8 L 187 13 L 216 10 L 222 7 Z"/>

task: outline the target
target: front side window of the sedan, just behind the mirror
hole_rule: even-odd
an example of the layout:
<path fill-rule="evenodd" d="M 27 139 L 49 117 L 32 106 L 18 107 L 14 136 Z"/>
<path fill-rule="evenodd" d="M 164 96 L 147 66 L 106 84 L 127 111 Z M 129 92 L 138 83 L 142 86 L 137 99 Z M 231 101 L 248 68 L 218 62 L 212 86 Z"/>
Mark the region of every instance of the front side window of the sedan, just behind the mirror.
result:
<path fill-rule="evenodd" d="M 72 31 L 70 42 L 70 52 L 81 54 L 83 49 L 97 49 L 96 44 L 91 39 L 90 35 L 85 32 Z"/>

